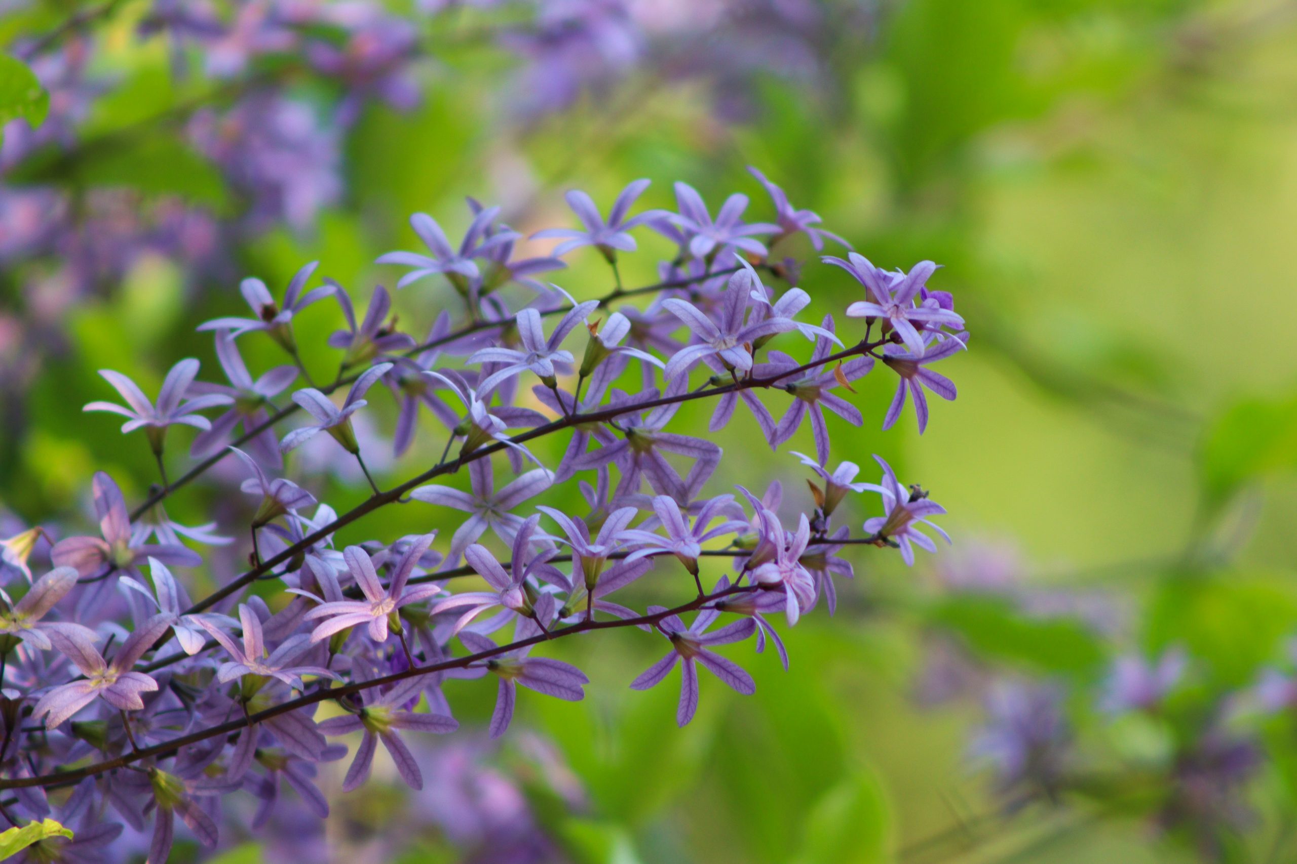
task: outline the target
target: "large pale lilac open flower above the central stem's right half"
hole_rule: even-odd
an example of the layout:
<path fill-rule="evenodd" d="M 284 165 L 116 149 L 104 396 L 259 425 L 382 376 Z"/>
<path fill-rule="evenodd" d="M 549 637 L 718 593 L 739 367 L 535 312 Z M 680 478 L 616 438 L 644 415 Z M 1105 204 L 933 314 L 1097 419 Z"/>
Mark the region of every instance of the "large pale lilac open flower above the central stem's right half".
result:
<path fill-rule="evenodd" d="M 796 329 L 796 323 L 789 317 L 768 317 L 759 321 L 747 319 L 755 276 L 741 269 L 729 277 L 725 302 L 720 320 L 712 321 L 696 306 L 680 298 L 663 301 L 663 307 L 678 317 L 698 339 L 677 351 L 667 360 L 668 381 L 687 372 L 695 363 L 707 356 L 717 356 L 726 368 L 747 372 L 752 368 L 754 342 L 776 333 Z"/>

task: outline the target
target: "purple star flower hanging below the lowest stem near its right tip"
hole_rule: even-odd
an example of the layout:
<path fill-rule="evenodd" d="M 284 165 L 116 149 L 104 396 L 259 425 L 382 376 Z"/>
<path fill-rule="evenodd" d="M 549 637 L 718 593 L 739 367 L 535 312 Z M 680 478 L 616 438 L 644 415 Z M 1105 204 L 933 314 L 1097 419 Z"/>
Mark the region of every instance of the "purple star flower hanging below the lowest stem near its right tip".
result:
<path fill-rule="evenodd" d="M 661 606 L 648 606 L 648 614 L 667 611 Z M 709 645 L 725 645 L 738 642 L 756 631 L 756 624 L 751 618 L 735 620 L 725 624 L 711 633 L 706 631 L 712 622 L 720 618 L 715 609 L 704 609 L 694 617 L 694 623 L 685 627 L 685 622 L 678 615 L 667 615 L 658 622 L 658 630 L 671 640 L 671 653 L 650 666 L 645 672 L 630 683 L 636 690 L 647 690 L 661 683 L 667 674 L 681 663 L 680 706 L 676 709 L 676 723 L 687 724 L 694 719 L 698 710 L 698 667 L 695 661 L 706 666 L 712 675 L 721 679 L 743 696 L 756 693 L 756 684 L 752 676 L 734 661 L 708 650 Z"/>

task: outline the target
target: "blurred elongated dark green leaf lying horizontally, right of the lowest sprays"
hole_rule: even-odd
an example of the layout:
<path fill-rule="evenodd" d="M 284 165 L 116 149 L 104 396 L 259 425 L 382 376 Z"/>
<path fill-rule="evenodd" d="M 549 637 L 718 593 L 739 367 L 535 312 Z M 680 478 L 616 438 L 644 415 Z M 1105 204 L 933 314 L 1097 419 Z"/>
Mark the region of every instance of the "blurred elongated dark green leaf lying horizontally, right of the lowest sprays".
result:
<path fill-rule="evenodd" d="M 953 630 L 979 654 L 1039 671 L 1087 674 L 1105 659 L 1099 637 L 1082 622 L 1029 618 L 1004 597 L 952 597 L 935 605 L 930 620 Z"/>

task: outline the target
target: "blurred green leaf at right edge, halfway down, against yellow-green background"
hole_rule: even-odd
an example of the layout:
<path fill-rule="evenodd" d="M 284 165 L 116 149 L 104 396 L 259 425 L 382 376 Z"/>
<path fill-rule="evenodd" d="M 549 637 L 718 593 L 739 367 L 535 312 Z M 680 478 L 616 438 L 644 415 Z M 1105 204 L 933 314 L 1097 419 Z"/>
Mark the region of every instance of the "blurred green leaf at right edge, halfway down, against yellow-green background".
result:
<path fill-rule="evenodd" d="M 1202 487 L 1213 503 L 1283 468 L 1297 468 L 1297 399 L 1230 405 L 1211 424 L 1198 453 Z"/>

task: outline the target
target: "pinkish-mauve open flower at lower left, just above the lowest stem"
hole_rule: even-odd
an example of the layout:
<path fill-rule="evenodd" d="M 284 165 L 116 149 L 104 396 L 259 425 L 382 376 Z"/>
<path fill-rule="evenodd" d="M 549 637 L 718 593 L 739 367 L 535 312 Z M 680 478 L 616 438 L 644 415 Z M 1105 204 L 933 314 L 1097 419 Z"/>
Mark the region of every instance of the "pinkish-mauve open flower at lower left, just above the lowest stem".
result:
<path fill-rule="evenodd" d="M 144 672 L 131 671 L 131 667 L 170 627 L 170 615 L 154 615 L 122 642 L 112 663 L 104 661 L 93 640 L 80 631 L 66 628 L 48 631 L 47 636 L 54 648 L 86 677 L 60 684 L 45 693 L 36 702 L 31 712 L 32 719 L 44 718 L 45 728 L 53 729 L 100 697 L 122 711 L 143 710 L 144 699 L 140 694 L 158 689 L 158 683 Z"/>

